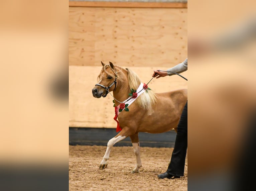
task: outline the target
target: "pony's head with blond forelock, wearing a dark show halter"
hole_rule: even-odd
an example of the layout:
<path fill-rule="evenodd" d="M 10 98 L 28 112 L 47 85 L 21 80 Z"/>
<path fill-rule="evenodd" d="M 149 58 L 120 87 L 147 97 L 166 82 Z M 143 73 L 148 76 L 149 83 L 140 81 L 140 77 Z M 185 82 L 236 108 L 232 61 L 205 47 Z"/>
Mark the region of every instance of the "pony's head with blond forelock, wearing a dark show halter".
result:
<path fill-rule="evenodd" d="M 115 66 L 109 62 L 104 64 L 101 62 L 103 68 L 98 76 L 98 84 L 92 89 L 93 96 L 96 98 L 106 97 L 111 91 L 116 88 L 117 72 Z"/>

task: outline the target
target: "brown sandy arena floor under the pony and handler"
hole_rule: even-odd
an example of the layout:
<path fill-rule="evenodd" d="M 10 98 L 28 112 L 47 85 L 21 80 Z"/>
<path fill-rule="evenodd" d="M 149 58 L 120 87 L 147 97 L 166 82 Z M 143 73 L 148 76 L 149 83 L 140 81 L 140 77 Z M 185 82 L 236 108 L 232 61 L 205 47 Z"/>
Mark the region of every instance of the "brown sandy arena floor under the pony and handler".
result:
<path fill-rule="evenodd" d="M 167 169 L 173 148 L 140 147 L 142 167 L 132 174 L 136 159 L 132 146 L 113 147 L 108 167 L 99 169 L 107 146 L 69 146 L 69 190 L 187 190 L 187 159 L 184 176 L 158 179 Z"/>

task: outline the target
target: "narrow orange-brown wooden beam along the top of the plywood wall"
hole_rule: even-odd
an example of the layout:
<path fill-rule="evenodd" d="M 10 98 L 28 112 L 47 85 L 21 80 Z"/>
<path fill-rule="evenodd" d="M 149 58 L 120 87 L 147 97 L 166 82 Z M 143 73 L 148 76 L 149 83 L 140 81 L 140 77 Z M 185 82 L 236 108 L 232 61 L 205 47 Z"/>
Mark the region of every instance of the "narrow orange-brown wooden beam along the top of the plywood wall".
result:
<path fill-rule="evenodd" d="M 187 3 L 69 1 L 69 6 L 70 7 L 125 7 L 125 8 L 187 8 Z"/>

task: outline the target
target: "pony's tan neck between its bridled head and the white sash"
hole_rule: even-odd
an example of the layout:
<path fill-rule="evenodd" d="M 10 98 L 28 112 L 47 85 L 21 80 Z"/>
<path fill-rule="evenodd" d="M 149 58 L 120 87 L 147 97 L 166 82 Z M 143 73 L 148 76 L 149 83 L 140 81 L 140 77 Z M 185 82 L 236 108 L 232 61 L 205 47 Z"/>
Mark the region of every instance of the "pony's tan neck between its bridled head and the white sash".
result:
<path fill-rule="evenodd" d="M 123 79 L 123 81 L 118 81 L 117 88 L 113 92 L 113 96 L 118 100 L 118 101 L 124 101 L 129 97 L 130 93 L 130 88 L 129 88 L 129 83 L 128 83 L 128 75 L 122 73 L 119 78 Z M 120 103 L 115 101 L 116 105 L 119 105 Z"/>

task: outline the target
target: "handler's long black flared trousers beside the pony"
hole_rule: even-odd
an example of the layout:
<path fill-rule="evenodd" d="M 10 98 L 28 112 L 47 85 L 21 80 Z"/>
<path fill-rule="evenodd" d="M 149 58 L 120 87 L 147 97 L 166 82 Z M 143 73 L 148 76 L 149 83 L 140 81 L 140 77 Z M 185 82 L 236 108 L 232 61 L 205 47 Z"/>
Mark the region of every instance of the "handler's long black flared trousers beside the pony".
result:
<path fill-rule="evenodd" d="M 174 149 L 171 155 L 167 173 L 173 176 L 184 176 L 184 166 L 187 151 L 187 102 L 183 108 L 179 124 L 177 127 L 177 135 L 175 139 Z"/>

